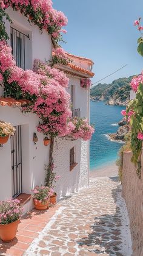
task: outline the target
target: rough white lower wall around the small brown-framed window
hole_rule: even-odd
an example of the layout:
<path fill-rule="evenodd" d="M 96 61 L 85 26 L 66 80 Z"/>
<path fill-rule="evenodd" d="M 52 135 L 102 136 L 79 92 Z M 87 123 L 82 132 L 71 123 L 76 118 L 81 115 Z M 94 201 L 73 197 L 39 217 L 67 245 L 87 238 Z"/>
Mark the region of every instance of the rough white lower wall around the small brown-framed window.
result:
<path fill-rule="evenodd" d="M 76 148 L 76 162 L 78 165 L 70 171 L 70 149 Z M 61 176 L 56 182 L 56 193 L 59 197 L 69 196 L 80 188 L 88 186 L 88 142 L 82 140 L 55 141 L 53 159 L 55 172 Z"/>

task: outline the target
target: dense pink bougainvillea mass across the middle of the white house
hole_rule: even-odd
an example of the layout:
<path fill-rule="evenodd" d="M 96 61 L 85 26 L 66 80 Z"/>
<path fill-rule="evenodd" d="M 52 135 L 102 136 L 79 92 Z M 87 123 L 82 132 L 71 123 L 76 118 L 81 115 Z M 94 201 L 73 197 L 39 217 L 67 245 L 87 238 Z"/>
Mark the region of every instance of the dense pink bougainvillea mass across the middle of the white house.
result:
<path fill-rule="evenodd" d="M 6 52 L 5 58 L 4 52 Z M 68 79 L 64 73 L 52 70 L 44 63 L 40 69 L 35 67 L 37 73 L 18 68 L 13 60 L 10 47 L 4 41 L 0 42 L 0 71 L 9 87 L 13 89 L 17 85 L 21 90 L 20 96 L 31 97 L 32 102 L 24 107 L 24 111 L 36 113 L 42 119 L 45 133 L 60 135 L 61 132 L 67 130 L 67 118 L 70 118 L 71 110 L 70 94 L 64 88 L 67 87 Z M 8 76 L 5 71 L 8 71 Z M 11 90 L 10 93 L 12 93 Z M 38 130 L 42 131 L 41 126 Z"/>

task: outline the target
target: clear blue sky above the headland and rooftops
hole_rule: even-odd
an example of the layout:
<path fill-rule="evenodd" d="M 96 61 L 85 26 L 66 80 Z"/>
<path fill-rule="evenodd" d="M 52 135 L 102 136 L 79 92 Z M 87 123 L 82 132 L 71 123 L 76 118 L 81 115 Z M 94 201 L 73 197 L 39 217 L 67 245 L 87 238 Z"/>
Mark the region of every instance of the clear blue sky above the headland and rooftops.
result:
<path fill-rule="evenodd" d="M 125 64 L 102 83 L 141 73 L 143 57 L 136 51 L 140 34 L 133 21 L 141 16 L 143 24 L 142 0 L 53 0 L 53 7 L 68 18 L 62 47 L 95 62 L 92 82 Z"/>

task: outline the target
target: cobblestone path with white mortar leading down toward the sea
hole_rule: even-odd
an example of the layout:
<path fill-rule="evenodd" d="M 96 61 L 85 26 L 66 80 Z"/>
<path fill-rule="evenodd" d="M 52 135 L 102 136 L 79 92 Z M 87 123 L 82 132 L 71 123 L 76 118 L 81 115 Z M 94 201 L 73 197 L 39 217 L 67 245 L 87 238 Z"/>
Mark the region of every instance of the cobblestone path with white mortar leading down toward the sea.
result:
<path fill-rule="evenodd" d="M 131 256 L 127 210 L 115 177 L 90 179 L 61 207 L 25 255 Z"/>

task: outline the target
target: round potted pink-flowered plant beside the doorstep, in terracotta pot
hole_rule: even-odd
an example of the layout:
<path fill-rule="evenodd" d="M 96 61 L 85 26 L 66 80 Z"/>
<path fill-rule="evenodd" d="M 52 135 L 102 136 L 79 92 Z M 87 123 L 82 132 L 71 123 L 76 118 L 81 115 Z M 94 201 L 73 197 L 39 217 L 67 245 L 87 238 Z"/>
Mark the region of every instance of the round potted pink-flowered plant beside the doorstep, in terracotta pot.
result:
<path fill-rule="evenodd" d="M 49 193 L 50 190 L 48 187 L 38 187 L 36 186 L 33 190 L 33 201 L 35 208 L 37 210 L 46 210 L 48 208 L 48 201 L 49 201 Z"/>

